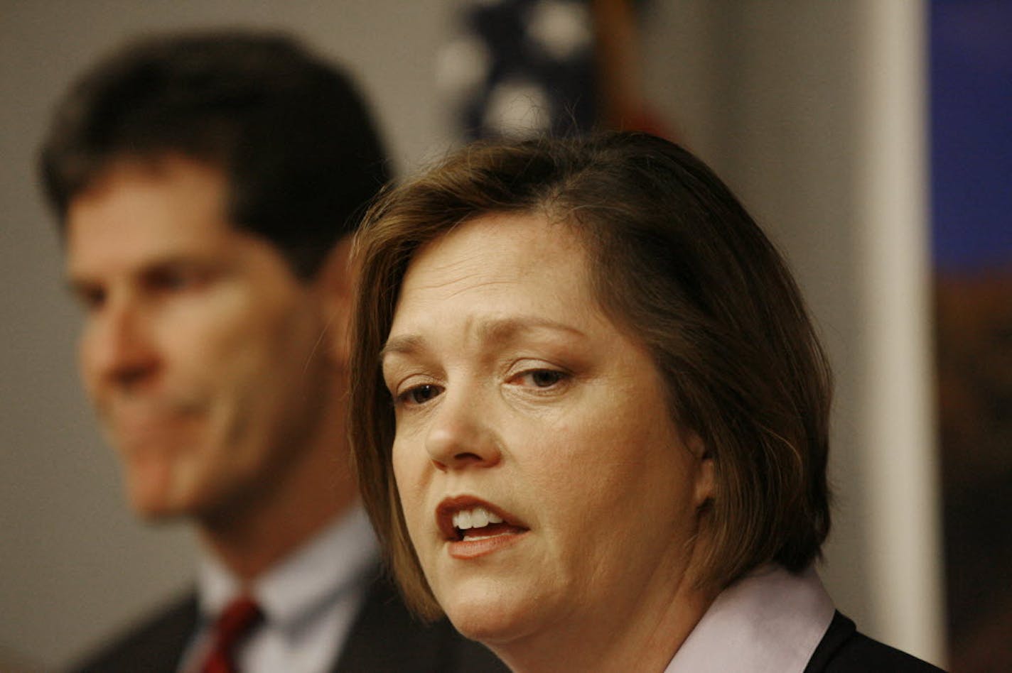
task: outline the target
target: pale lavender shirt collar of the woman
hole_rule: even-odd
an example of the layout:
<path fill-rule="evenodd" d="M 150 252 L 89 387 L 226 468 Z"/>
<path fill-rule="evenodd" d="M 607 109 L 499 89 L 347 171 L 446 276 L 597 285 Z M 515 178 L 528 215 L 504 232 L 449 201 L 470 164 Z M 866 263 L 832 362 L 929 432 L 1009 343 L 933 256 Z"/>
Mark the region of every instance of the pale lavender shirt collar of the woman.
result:
<path fill-rule="evenodd" d="M 763 566 L 721 592 L 665 673 L 800 673 L 834 612 L 815 568 Z"/>

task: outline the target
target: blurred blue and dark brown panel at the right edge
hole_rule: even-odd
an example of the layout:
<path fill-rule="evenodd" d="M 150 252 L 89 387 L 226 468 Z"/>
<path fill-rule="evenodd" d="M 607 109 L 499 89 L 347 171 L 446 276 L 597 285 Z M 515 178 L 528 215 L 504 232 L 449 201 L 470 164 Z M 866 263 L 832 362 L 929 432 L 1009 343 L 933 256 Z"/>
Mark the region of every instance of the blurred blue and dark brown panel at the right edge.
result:
<path fill-rule="evenodd" d="M 931 5 L 935 363 L 949 662 L 1012 670 L 1012 3 Z"/>

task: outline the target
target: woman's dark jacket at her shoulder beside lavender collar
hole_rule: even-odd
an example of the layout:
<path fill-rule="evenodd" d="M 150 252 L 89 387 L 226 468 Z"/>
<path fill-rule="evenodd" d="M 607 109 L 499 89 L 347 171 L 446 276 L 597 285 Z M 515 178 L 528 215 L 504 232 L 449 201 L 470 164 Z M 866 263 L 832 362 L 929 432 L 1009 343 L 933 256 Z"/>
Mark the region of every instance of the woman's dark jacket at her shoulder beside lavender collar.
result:
<path fill-rule="evenodd" d="M 854 622 L 837 612 L 805 673 L 932 673 L 941 669 L 857 633 Z"/>

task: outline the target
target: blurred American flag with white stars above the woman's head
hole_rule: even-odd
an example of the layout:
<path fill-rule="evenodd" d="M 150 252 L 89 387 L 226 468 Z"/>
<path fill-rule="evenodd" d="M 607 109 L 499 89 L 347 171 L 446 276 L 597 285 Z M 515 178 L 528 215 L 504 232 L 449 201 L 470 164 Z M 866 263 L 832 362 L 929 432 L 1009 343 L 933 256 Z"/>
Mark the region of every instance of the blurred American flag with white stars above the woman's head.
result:
<path fill-rule="evenodd" d="M 595 127 L 657 130 L 619 72 L 635 58 L 630 0 L 471 0 L 440 52 L 437 85 L 467 139 Z M 616 70 L 618 69 L 618 70 Z M 635 99 L 635 100 L 630 100 Z M 631 111 L 631 112 L 630 112 Z"/>

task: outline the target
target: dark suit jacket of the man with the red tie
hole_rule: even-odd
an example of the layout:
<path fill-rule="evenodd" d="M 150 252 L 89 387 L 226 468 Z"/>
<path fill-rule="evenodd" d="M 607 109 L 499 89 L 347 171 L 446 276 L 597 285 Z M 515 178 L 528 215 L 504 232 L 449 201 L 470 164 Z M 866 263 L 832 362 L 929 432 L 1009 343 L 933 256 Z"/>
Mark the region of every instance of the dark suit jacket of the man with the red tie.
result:
<path fill-rule="evenodd" d="M 106 646 L 78 673 L 174 673 L 199 613 L 190 592 Z M 372 581 L 333 673 L 495 673 L 506 671 L 484 646 L 465 639 L 446 619 L 424 626 L 386 577 Z"/>

